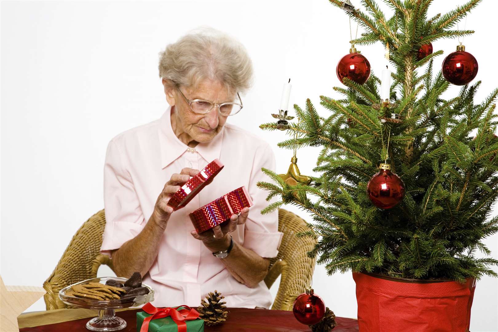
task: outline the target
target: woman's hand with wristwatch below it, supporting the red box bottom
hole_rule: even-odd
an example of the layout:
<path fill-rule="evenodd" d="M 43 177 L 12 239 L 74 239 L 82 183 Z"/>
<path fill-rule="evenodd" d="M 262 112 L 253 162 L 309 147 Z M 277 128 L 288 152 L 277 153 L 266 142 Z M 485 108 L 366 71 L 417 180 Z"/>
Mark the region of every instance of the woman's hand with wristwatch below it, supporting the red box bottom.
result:
<path fill-rule="evenodd" d="M 195 230 L 190 232 L 193 237 L 201 240 L 204 245 L 212 252 L 227 250 L 230 246 L 230 236 L 228 233 L 233 232 L 237 229 L 237 225 L 244 225 L 249 216 L 249 208 L 244 208 L 241 214 L 232 215 L 230 220 L 220 226 L 214 226 L 213 229 L 204 231 L 202 233 L 197 233 Z"/>

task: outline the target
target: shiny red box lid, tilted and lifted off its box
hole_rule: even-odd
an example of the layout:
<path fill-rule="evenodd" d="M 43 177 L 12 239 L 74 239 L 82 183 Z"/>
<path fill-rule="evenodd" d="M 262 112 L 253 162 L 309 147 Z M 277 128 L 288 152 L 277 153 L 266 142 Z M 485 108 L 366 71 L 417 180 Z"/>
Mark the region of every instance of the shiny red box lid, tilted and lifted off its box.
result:
<path fill-rule="evenodd" d="M 220 173 L 225 165 L 215 159 L 210 162 L 199 173 L 188 180 L 178 191 L 171 197 L 168 206 L 173 208 L 173 211 L 183 208 L 197 195 L 202 188 L 213 181 L 214 177 Z"/>

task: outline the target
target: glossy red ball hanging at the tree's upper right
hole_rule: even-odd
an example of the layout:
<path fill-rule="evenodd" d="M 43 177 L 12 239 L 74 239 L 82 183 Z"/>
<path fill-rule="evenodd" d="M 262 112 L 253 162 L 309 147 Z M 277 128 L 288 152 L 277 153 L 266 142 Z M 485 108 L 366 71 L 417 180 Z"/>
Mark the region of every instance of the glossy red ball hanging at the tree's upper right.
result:
<path fill-rule="evenodd" d="M 465 51 L 450 53 L 443 61 L 444 78 L 454 85 L 466 85 L 477 75 L 478 64 L 476 58 Z"/>

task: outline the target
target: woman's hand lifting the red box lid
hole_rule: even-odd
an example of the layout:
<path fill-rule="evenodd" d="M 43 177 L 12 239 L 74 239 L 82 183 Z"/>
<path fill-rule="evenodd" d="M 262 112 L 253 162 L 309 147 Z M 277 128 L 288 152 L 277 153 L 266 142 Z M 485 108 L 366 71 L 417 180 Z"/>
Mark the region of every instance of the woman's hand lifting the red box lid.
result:
<path fill-rule="evenodd" d="M 174 173 L 171 175 L 171 179 L 166 182 L 162 192 L 157 197 L 154 212 L 152 213 L 154 220 L 159 225 L 165 227 L 169 220 L 169 216 L 173 212 L 173 208 L 168 206 L 168 202 L 173 194 L 176 193 L 178 189 L 185 184 L 185 182 L 190 180 L 190 177 L 196 175 L 197 173 L 199 173 L 199 170 L 185 167 L 181 170 L 180 174 Z"/>

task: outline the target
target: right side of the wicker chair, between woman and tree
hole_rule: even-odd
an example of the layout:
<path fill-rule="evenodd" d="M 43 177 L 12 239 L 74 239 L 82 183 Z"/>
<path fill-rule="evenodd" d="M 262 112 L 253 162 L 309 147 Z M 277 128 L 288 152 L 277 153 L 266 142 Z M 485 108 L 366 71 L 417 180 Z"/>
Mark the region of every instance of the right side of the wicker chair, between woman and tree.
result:
<path fill-rule="evenodd" d="M 287 210 L 278 210 L 278 231 L 283 233 L 283 238 L 278 255 L 271 259 L 270 270 L 264 278 L 266 286 L 270 288 L 276 278 L 282 275 L 271 307 L 273 310 L 292 310 L 296 297 L 310 285 L 315 259 L 312 260 L 306 253 L 314 247 L 316 240 L 296 237 L 296 233 L 304 230 L 308 230 L 306 221 Z"/>

